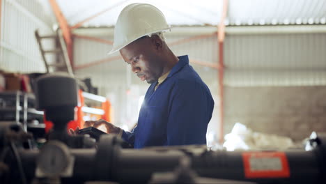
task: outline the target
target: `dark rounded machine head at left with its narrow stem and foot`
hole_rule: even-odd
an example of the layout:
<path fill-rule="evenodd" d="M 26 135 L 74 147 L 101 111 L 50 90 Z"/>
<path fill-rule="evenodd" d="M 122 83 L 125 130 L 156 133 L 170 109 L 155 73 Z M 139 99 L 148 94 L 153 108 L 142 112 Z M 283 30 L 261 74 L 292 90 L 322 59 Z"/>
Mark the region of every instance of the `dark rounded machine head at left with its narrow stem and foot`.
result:
<path fill-rule="evenodd" d="M 45 111 L 48 121 L 54 126 L 49 132 L 50 140 L 59 140 L 71 148 L 89 148 L 95 146 L 90 137 L 67 133 L 67 124 L 75 118 L 78 105 L 76 79 L 65 73 L 49 73 L 36 79 L 37 108 Z"/>

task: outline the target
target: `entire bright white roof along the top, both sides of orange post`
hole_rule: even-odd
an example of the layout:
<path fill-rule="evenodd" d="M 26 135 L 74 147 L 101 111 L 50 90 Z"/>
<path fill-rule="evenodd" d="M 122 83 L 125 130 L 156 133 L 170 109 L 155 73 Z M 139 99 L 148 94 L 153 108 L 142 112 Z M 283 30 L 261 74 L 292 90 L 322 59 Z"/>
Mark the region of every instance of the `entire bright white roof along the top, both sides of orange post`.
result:
<path fill-rule="evenodd" d="M 57 0 L 70 25 L 102 10 L 83 26 L 114 26 L 130 3 L 150 3 L 160 8 L 171 25 L 217 25 L 222 0 Z M 326 24 L 326 0 L 229 0 L 226 25 Z"/>

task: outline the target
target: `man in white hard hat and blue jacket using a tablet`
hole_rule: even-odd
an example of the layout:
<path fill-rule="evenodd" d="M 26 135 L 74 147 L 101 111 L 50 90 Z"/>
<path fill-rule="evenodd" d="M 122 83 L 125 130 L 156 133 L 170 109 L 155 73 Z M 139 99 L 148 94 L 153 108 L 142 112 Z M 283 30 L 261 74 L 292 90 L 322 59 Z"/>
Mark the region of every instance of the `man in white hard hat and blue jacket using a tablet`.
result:
<path fill-rule="evenodd" d="M 175 56 L 163 33 L 170 30 L 160 10 L 132 3 L 118 17 L 114 47 L 142 81 L 150 87 L 139 112 L 137 127 L 126 132 L 106 121 L 107 132 L 121 135 L 134 148 L 205 144 L 214 100 L 199 75 L 189 66 L 188 56 Z"/>

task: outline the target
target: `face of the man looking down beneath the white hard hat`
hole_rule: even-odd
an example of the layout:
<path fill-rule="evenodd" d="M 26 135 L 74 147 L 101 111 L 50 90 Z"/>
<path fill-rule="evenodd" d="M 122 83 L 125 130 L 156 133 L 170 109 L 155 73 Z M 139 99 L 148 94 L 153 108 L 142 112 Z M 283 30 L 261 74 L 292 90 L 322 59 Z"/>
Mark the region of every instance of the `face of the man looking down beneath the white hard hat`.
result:
<path fill-rule="evenodd" d="M 155 38 L 140 38 L 120 50 L 126 63 L 142 81 L 152 84 L 162 75 L 163 66 L 157 55 Z"/>

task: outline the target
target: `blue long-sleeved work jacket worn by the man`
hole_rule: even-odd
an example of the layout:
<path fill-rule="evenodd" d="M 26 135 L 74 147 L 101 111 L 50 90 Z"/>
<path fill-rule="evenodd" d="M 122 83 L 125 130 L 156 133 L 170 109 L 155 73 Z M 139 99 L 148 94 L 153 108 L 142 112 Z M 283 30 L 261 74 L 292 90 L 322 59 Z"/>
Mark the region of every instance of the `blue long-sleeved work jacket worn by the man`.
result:
<path fill-rule="evenodd" d="M 134 148 L 206 144 L 207 126 L 214 100 L 208 86 L 189 66 L 188 56 L 179 56 L 176 66 L 156 91 L 148 88 L 137 127 L 123 131 L 123 139 Z"/>

